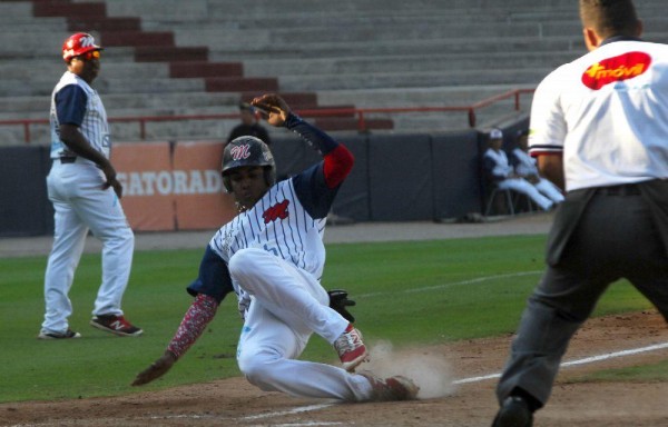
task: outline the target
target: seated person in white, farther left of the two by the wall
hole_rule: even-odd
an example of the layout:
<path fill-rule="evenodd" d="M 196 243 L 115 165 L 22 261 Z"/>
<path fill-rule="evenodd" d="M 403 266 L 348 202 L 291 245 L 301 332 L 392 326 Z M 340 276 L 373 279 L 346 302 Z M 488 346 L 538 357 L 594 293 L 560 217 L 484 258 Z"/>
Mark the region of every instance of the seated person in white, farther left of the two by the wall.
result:
<path fill-rule="evenodd" d="M 527 195 L 542 210 L 550 210 L 554 202 L 538 191 L 528 180 L 517 175 L 508 162 L 505 151 L 501 149 L 503 146 L 503 132 L 500 129 L 492 129 L 490 132 L 489 148 L 482 158 L 484 171 L 490 181 L 498 188 Z"/>

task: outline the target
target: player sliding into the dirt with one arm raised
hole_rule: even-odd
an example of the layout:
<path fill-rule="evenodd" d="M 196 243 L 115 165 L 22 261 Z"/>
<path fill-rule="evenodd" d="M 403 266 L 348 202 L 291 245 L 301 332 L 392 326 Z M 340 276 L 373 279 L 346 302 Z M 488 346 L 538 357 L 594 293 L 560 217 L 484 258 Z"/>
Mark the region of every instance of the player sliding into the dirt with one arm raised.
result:
<path fill-rule="evenodd" d="M 132 385 L 167 373 L 200 336 L 225 295 L 234 290 L 245 320 L 238 366 L 263 390 L 346 401 L 415 398 L 418 387 L 405 377 L 353 374 L 367 357 L 362 335 L 330 307 L 320 282 L 326 216 L 353 166 L 352 153 L 292 113 L 276 95 L 256 98 L 253 105 L 271 125 L 298 133 L 324 159 L 275 182 L 274 158 L 263 141 L 239 137 L 225 147 L 223 181 L 240 212 L 208 244 L 199 277 L 188 287 L 195 300 L 167 350 Z M 341 368 L 297 360 L 313 332 L 334 346 Z"/>

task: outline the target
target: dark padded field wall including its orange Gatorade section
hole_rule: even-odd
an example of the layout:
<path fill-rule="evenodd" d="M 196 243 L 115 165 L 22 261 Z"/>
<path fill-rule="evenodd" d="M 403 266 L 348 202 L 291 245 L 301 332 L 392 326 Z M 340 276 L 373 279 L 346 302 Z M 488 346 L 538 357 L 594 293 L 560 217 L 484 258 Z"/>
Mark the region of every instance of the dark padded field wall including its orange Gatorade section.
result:
<path fill-rule="evenodd" d="M 515 127 L 519 125 L 515 125 Z M 508 129 L 508 135 L 514 129 Z M 477 130 L 439 135 L 341 135 L 355 156 L 333 212 L 355 221 L 412 221 L 480 214 Z M 219 141 L 116 143 L 112 161 L 124 183 L 122 205 L 136 231 L 217 229 L 234 216 L 218 170 Z M 285 178 L 320 155 L 297 136 L 274 138 L 277 176 Z M 0 148 L 0 237 L 49 235 L 53 210 L 45 178 L 47 147 Z"/>

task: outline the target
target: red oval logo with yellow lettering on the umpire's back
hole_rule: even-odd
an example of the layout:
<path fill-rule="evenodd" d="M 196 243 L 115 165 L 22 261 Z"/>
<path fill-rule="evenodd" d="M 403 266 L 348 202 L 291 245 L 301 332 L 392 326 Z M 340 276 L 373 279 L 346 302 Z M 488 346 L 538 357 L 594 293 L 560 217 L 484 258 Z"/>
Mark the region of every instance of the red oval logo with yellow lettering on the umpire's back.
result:
<path fill-rule="evenodd" d="M 615 81 L 632 79 L 649 68 L 651 58 L 645 52 L 628 52 L 619 57 L 603 59 L 589 67 L 582 75 L 582 83 L 593 90 Z"/>

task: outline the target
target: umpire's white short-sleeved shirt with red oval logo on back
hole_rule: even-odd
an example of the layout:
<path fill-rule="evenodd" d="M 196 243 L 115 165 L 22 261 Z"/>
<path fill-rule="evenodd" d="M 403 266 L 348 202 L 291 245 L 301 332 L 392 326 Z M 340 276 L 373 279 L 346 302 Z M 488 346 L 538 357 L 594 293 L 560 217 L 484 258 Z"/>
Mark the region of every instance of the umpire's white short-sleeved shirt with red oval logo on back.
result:
<path fill-rule="evenodd" d="M 568 191 L 668 178 L 668 46 L 608 42 L 551 72 L 529 147 L 563 156 Z"/>

